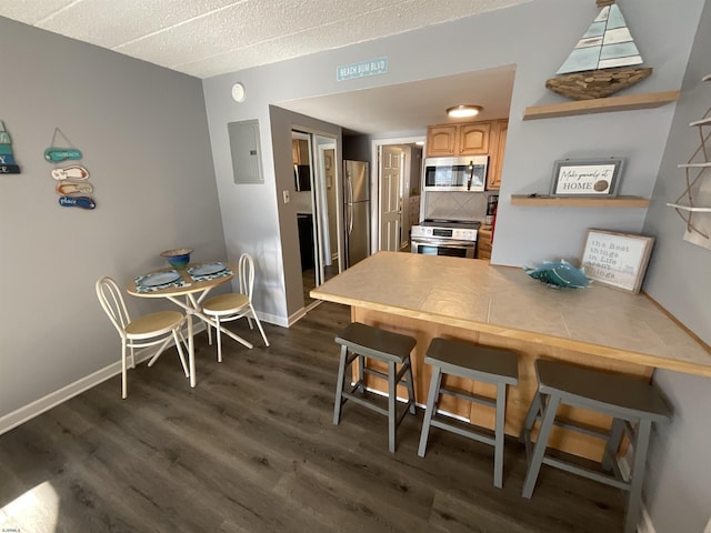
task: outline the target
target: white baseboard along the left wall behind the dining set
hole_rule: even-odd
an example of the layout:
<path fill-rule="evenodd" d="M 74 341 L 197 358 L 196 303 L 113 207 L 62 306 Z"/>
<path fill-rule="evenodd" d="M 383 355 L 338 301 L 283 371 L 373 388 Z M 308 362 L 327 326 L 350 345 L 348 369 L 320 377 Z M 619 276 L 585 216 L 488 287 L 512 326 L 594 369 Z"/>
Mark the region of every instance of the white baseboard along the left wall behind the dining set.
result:
<path fill-rule="evenodd" d="M 197 321 L 194 324 L 193 334 L 200 333 L 204 331 L 204 323 L 202 321 Z M 183 332 L 187 334 L 187 332 Z M 120 352 L 120 339 L 116 339 L 117 342 L 117 352 Z M 170 345 L 174 343 L 171 342 Z M 143 350 L 136 352 L 136 364 L 140 364 L 143 361 L 148 361 L 154 351 L 150 348 L 144 348 Z M 62 402 L 81 394 L 89 389 L 97 386 L 100 383 L 113 378 L 114 375 L 119 375 L 121 373 L 121 361 L 117 361 L 116 363 L 111 363 L 103 369 L 97 370 L 92 374 L 86 375 L 73 383 L 70 383 L 67 386 L 62 386 L 58 391 L 51 392 L 43 398 L 40 398 L 32 403 L 23 405 L 22 408 L 8 413 L 0 418 L 0 435 L 7 433 L 8 431 L 17 428 L 20 424 L 23 424 L 28 420 L 38 416 L 46 411 L 49 411 L 52 408 L 56 408 Z M 120 399 L 121 391 L 117 390 L 117 398 Z"/>

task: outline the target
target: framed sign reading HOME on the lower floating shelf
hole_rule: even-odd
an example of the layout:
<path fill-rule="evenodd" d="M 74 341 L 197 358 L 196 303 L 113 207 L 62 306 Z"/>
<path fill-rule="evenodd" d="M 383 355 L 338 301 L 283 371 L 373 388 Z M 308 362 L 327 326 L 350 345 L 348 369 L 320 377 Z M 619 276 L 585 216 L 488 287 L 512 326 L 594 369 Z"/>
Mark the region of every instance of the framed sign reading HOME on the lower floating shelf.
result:
<path fill-rule="evenodd" d="M 613 197 L 623 163 L 619 158 L 555 161 L 551 197 Z"/>

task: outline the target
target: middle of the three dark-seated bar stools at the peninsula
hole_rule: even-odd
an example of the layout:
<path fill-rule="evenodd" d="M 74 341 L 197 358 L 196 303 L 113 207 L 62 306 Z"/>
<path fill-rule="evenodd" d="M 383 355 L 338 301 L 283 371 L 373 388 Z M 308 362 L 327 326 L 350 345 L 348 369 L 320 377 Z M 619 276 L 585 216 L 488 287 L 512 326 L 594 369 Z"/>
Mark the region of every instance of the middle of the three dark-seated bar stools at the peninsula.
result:
<path fill-rule="evenodd" d="M 519 383 L 518 356 L 515 353 L 499 348 L 482 346 L 470 342 L 433 339 L 424 358 L 427 364 L 431 364 L 432 380 L 420 434 L 420 447 L 418 455 L 424 456 L 430 426 L 451 431 L 462 436 L 473 439 L 494 446 L 493 484 L 501 489 L 503 479 L 503 430 L 507 408 L 507 386 Z M 444 374 L 458 375 L 469 380 L 491 383 L 497 385 L 497 399 L 491 400 L 478 394 L 468 394 L 442 386 Z M 438 414 L 437 404 L 440 394 L 461 398 L 471 402 L 481 403 L 495 409 L 494 438 L 481 431 L 468 431 L 449 424 Z"/>

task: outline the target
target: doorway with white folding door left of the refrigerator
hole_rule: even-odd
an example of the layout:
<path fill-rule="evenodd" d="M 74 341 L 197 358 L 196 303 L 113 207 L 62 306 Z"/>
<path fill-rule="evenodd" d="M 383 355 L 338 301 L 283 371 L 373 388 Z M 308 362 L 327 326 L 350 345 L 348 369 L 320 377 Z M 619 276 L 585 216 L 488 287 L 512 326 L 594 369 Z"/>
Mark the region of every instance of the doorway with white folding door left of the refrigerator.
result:
<path fill-rule="evenodd" d="M 318 302 L 309 292 L 338 274 L 339 169 L 336 138 L 308 130 L 292 131 L 294 202 L 299 223 L 299 250 L 304 308 Z"/>

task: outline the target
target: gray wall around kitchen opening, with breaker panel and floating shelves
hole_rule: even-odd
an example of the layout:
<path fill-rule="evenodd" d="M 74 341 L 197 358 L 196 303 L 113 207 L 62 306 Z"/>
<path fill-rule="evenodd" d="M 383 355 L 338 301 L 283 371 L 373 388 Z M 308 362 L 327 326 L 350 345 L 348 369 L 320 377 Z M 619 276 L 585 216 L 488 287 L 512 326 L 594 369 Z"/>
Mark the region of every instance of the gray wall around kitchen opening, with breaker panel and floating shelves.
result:
<path fill-rule="evenodd" d="M 638 46 L 648 63 L 654 67 L 652 77 L 634 90 L 654 92 L 680 88 L 693 40 L 693 31 L 689 29 L 697 27 L 702 4 L 703 0 L 624 2 L 624 13 Z M 228 249 L 236 248 L 237 243 L 249 247 L 254 239 L 266 247 L 266 278 L 260 291 L 266 293 L 262 309 L 276 315 L 272 321 L 286 320 L 286 293 L 291 290 L 281 265 L 297 264 L 291 258 L 284 257 L 282 262 L 278 257 L 298 252 L 296 249 L 287 252 L 279 243 L 277 219 L 281 191 L 274 188 L 273 163 L 267 160 L 271 151 L 268 105 L 272 103 L 515 64 L 493 262 L 520 266 L 545 259 L 577 259 L 585 230 L 591 227 L 641 231 L 644 209 L 541 209 L 510 204 L 511 194 L 547 192 L 554 161 L 564 158 L 624 157 L 628 164 L 620 193 L 647 198 L 652 193 L 673 104 L 642 112 L 520 120 L 529 105 L 564 101 L 544 88 L 545 79 L 563 62 L 598 12 L 594 2 L 588 0 L 538 0 L 204 80 Z M 561 24 L 561 20 L 567 22 Z M 338 66 L 379 57 L 389 58 L 387 74 L 337 81 Z M 247 88 L 247 100 L 241 104 L 230 98 L 230 89 L 237 81 Z M 266 183 L 238 190 L 227 185 L 231 169 L 226 124 L 254 118 L 262 128 Z M 244 198 L 249 198 L 249 202 L 244 202 Z M 259 211 L 271 222 L 261 222 L 254 233 L 254 224 L 240 223 L 237 214 L 240 211 L 250 215 Z M 289 306 L 289 313 L 292 312 Z"/>

